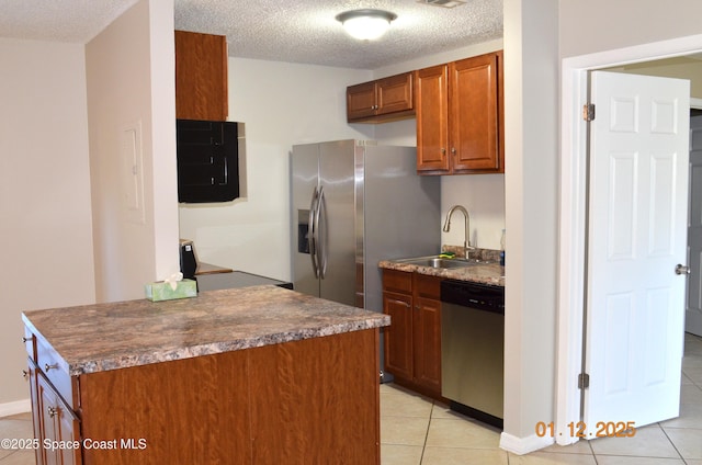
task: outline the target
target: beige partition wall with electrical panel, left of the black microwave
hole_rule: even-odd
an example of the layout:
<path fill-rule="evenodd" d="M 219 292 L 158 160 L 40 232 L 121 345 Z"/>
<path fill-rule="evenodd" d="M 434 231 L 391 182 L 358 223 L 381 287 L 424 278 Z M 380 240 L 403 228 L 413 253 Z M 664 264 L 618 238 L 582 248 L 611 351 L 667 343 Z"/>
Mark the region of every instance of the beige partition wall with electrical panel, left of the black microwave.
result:
<path fill-rule="evenodd" d="M 99 302 L 140 298 L 145 283 L 180 268 L 168 7 L 143 0 L 86 46 Z M 131 131 L 141 157 L 136 179 L 123 144 Z"/>

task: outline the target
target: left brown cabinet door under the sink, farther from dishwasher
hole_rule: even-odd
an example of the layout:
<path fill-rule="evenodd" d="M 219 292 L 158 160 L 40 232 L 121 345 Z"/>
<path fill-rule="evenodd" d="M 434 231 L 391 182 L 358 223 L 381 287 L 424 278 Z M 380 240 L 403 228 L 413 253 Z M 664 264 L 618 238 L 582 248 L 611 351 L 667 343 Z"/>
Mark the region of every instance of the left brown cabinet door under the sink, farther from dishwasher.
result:
<path fill-rule="evenodd" d="M 383 313 L 390 316 L 385 328 L 385 370 L 405 379 L 412 379 L 412 297 L 385 292 Z"/>

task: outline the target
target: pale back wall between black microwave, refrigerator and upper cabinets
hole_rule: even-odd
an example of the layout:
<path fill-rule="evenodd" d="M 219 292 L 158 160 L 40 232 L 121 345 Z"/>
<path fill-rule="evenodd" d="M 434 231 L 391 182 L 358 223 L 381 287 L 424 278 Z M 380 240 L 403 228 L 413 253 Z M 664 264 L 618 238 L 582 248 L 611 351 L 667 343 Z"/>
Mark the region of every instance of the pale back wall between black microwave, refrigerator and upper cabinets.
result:
<path fill-rule="evenodd" d="M 346 87 L 370 79 L 358 69 L 229 58 L 228 120 L 246 124 L 248 193 L 180 206 L 181 237 L 195 241 L 201 261 L 291 279 L 290 150 L 372 138 L 369 125 L 346 123 Z"/>

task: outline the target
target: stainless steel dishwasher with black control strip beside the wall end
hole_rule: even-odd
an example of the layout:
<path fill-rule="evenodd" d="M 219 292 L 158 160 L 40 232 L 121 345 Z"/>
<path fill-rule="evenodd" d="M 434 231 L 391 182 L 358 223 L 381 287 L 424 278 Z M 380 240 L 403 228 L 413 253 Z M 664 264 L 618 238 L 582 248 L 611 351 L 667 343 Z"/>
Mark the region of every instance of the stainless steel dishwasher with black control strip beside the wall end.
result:
<path fill-rule="evenodd" d="M 441 282 L 441 395 L 452 410 L 502 428 L 505 288 Z"/>

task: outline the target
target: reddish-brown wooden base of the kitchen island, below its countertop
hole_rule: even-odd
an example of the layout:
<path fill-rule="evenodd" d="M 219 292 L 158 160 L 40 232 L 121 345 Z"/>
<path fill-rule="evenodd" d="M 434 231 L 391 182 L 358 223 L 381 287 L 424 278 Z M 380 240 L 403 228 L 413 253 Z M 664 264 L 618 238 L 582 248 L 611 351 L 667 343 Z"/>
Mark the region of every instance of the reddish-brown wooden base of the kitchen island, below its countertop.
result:
<path fill-rule="evenodd" d="M 81 450 L 37 463 L 380 464 L 378 341 L 369 329 L 80 375 L 79 426 L 59 416 L 56 435 L 41 413 L 37 433 L 80 431 Z M 44 412 L 52 385 L 33 383 Z"/>

